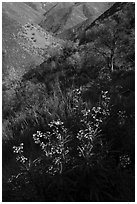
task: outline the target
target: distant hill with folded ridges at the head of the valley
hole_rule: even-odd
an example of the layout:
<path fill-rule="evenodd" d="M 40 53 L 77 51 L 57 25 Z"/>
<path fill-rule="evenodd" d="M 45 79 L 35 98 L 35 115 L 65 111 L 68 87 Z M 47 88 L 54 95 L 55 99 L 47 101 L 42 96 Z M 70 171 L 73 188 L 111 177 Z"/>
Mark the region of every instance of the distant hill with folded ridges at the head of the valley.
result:
<path fill-rule="evenodd" d="M 59 34 L 88 20 L 94 21 L 113 2 L 47 2 L 43 3 L 44 18 L 40 26 L 47 31 Z"/>

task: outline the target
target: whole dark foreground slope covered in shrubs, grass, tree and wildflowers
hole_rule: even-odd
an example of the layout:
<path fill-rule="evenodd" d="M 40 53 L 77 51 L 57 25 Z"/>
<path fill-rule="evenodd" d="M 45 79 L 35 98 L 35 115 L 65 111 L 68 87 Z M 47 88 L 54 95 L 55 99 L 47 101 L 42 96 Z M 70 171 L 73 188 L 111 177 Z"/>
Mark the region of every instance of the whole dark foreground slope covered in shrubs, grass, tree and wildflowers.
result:
<path fill-rule="evenodd" d="M 25 72 L 3 51 L 3 201 L 135 201 L 134 7 Z"/>

